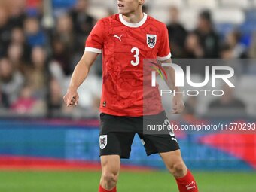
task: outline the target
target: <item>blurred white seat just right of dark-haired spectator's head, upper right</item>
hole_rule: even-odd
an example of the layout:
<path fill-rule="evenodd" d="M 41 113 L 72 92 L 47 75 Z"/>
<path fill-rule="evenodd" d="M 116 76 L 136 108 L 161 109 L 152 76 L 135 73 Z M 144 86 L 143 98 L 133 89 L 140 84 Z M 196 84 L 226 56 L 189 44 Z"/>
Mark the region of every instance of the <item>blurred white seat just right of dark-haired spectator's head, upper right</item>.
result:
<path fill-rule="evenodd" d="M 245 21 L 245 14 L 239 8 L 220 8 L 212 10 L 215 23 L 241 24 Z"/>

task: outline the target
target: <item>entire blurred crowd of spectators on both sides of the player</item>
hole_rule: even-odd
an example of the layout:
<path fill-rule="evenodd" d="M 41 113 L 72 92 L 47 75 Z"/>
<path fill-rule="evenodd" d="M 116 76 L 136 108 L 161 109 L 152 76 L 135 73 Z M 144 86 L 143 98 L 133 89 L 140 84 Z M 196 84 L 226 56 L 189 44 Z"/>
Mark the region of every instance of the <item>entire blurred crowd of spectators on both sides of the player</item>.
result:
<path fill-rule="evenodd" d="M 65 11 L 50 12 L 43 2 L 0 2 L 0 116 L 95 116 L 102 75 L 100 57 L 82 86 L 81 105 L 66 108 L 62 102 L 84 42 L 96 23 L 87 11 L 90 3 L 77 0 Z M 178 8 L 169 8 L 169 17 L 166 25 L 173 58 L 256 57 L 253 35 L 249 46 L 242 42 L 239 30 L 219 35 L 209 11 L 200 12 L 197 29 L 192 31 L 179 23 Z"/>

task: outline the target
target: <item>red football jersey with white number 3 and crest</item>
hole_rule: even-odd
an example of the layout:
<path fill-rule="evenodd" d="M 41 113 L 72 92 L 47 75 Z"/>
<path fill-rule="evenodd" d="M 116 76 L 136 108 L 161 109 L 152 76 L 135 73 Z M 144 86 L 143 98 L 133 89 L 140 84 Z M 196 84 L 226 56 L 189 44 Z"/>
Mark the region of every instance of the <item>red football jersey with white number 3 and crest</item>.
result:
<path fill-rule="evenodd" d="M 102 53 L 100 111 L 139 117 L 163 111 L 158 87 L 143 94 L 143 59 L 171 57 L 166 25 L 144 14 L 128 23 L 122 14 L 99 20 L 86 41 L 85 51 Z M 144 110 L 143 103 L 150 107 Z"/>

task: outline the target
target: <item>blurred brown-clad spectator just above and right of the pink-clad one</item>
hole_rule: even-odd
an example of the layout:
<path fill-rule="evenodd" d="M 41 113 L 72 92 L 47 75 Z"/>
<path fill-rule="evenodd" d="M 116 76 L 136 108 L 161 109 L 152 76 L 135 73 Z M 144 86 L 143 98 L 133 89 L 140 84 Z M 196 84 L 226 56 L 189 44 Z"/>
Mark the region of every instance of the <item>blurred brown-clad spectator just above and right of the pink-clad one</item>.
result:
<path fill-rule="evenodd" d="M 26 82 L 32 88 L 32 96 L 46 99 L 49 72 L 46 53 L 42 47 L 32 49 L 32 66 L 26 70 Z"/>

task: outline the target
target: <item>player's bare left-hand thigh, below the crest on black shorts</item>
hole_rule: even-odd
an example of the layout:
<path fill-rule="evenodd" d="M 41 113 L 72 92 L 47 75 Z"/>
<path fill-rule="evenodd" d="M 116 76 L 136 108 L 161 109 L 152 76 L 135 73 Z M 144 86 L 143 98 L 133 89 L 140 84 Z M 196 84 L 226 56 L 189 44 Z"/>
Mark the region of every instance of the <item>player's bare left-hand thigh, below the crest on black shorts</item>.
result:
<path fill-rule="evenodd" d="M 120 156 L 119 155 L 102 155 L 100 157 L 102 165 L 102 173 L 118 175 L 120 170 Z"/>

